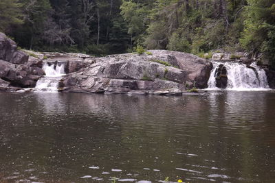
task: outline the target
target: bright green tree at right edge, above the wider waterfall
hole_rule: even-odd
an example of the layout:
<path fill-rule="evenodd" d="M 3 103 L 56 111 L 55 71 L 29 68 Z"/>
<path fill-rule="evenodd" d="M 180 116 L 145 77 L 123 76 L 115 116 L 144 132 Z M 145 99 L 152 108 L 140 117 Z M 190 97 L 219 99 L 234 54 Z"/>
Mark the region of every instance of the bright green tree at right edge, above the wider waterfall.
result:
<path fill-rule="evenodd" d="M 264 58 L 275 65 L 275 2 L 248 0 L 245 18 L 243 47 L 256 54 L 263 52 Z"/>

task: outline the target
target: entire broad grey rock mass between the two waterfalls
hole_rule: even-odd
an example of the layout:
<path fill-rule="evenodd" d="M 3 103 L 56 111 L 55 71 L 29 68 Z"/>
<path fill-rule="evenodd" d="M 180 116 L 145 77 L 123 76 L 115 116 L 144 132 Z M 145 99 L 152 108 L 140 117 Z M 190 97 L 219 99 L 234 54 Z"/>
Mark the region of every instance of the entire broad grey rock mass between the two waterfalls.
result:
<path fill-rule="evenodd" d="M 178 94 L 186 82 L 206 88 L 212 63 L 188 53 L 153 50 L 97 58 L 95 64 L 65 76 L 64 92 Z M 157 61 L 168 62 L 165 66 Z M 175 67 L 174 67 L 175 66 Z M 176 68 L 176 67 L 179 67 Z"/>

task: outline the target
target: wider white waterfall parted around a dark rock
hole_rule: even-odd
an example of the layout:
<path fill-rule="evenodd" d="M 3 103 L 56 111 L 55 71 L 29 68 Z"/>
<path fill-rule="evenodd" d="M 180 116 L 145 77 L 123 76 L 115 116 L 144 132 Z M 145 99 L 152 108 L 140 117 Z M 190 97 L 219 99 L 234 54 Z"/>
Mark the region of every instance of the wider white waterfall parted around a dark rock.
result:
<path fill-rule="evenodd" d="M 256 65 L 236 62 L 212 62 L 213 69 L 208 80 L 208 89 L 218 89 L 216 86 L 216 71 L 221 64 L 225 67 L 228 77 L 228 90 L 261 90 L 270 88 L 265 71 Z"/>

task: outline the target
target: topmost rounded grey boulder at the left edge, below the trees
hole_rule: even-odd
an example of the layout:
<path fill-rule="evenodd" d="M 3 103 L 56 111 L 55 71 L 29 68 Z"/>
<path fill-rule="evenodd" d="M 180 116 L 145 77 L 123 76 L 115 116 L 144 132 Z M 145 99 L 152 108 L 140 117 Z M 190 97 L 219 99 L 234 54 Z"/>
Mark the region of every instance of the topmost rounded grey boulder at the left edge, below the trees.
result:
<path fill-rule="evenodd" d="M 20 50 L 13 40 L 0 32 L 0 60 L 5 60 L 13 64 L 24 64 L 28 62 L 29 56 Z"/>

